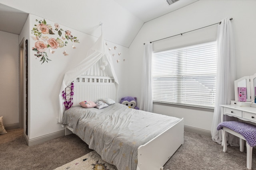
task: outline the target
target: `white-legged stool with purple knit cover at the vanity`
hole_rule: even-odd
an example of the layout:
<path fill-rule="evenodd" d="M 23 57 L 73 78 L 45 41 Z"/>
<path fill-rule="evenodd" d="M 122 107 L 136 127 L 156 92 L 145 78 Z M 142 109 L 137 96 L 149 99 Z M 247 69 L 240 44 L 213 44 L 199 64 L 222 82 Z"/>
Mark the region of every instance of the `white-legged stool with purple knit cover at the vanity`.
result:
<path fill-rule="evenodd" d="M 219 123 L 217 130 L 222 129 L 223 152 L 227 151 L 226 132 L 240 138 L 240 151 L 244 152 L 246 141 L 246 167 L 252 169 L 252 147 L 256 146 L 256 126 L 239 121 L 224 121 Z"/>

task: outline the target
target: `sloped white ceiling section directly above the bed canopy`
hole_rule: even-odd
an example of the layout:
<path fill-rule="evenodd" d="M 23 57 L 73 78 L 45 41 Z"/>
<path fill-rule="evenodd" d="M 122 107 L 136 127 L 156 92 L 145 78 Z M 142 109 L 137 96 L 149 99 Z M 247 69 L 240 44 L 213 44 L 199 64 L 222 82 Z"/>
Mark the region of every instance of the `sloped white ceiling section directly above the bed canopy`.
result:
<path fill-rule="evenodd" d="M 38 3 L 34 0 L 0 0 L 0 3 L 28 14 L 58 21 L 94 37 L 100 36 L 100 29 L 96 28 L 103 22 L 105 39 L 124 47 L 130 46 L 143 25 L 143 21 L 114 0 L 44 0 Z"/>

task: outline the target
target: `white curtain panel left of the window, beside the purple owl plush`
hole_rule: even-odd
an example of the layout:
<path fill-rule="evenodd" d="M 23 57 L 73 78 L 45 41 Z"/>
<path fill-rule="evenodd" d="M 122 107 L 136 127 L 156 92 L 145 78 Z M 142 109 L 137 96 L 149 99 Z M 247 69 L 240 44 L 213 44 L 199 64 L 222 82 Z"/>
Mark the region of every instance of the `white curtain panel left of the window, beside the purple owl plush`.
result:
<path fill-rule="evenodd" d="M 152 96 L 152 55 L 153 44 L 146 42 L 144 46 L 144 57 L 142 67 L 142 82 L 141 82 L 141 102 L 140 109 L 153 112 L 153 96 Z"/>

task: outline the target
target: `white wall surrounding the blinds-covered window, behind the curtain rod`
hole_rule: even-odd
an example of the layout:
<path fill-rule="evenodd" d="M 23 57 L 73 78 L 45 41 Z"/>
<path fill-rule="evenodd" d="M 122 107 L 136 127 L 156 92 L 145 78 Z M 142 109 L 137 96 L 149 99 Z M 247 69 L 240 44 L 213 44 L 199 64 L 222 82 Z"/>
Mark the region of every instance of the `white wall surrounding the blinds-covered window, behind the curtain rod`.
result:
<path fill-rule="evenodd" d="M 253 0 L 199 0 L 189 6 L 166 14 L 160 18 L 144 23 L 142 29 L 130 46 L 129 67 L 124 76 L 133 75 L 128 79 L 126 88 L 132 96 L 138 97 L 141 92 L 141 65 L 146 41 L 154 41 L 172 35 L 191 31 L 206 25 L 218 23 L 225 17 L 233 18 L 236 46 L 236 79 L 256 72 L 256 1 Z M 154 51 L 202 43 L 216 39 L 217 25 L 200 29 L 153 43 Z M 132 68 L 132 69 L 129 69 Z M 154 105 L 153 111 L 184 117 L 185 125 L 210 131 L 212 112 L 182 109 Z"/>

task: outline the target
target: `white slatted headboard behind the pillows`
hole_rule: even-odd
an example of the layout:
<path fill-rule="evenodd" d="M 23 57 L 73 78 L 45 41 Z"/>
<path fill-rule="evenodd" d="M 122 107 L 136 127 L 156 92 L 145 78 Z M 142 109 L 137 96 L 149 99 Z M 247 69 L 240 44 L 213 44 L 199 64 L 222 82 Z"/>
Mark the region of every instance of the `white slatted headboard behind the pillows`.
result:
<path fill-rule="evenodd" d="M 113 77 L 81 75 L 74 81 L 73 106 L 79 102 L 90 100 L 96 102 L 100 98 L 116 100 L 116 85 Z"/>

